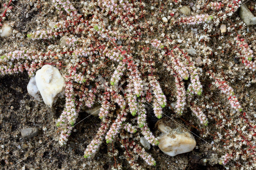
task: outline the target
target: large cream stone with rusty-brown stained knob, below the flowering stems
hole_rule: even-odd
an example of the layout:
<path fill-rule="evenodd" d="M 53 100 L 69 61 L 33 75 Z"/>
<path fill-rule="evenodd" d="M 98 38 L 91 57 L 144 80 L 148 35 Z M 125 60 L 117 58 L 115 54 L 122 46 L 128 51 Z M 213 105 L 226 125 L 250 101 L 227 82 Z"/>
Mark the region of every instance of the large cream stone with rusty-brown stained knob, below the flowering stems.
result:
<path fill-rule="evenodd" d="M 196 146 L 194 136 L 185 128 L 164 117 L 157 121 L 156 126 L 162 132 L 158 147 L 169 156 L 176 156 L 192 151 Z"/>

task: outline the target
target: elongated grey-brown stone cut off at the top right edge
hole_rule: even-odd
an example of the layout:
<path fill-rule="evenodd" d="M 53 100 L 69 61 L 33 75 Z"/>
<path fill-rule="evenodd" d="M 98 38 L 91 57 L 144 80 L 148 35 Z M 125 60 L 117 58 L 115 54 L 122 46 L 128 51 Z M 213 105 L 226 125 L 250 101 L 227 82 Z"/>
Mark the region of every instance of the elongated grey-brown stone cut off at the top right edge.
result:
<path fill-rule="evenodd" d="M 239 16 L 240 18 L 242 18 L 243 22 L 248 26 L 256 24 L 256 18 L 254 17 L 252 12 L 248 9 L 246 4 L 243 4 L 240 6 Z"/>

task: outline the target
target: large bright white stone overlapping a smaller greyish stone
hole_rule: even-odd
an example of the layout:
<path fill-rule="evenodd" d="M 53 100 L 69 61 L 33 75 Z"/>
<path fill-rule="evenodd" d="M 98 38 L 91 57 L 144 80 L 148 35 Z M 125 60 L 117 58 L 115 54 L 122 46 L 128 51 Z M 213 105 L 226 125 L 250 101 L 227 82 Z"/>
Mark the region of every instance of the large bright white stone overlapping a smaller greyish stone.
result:
<path fill-rule="evenodd" d="M 65 79 L 56 67 L 44 65 L 36 71 L 36 85 L 44 100 L 44 103 L 52 107 L 54 98 L 65 88 Z"/>

